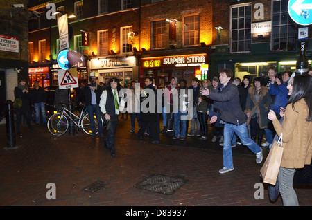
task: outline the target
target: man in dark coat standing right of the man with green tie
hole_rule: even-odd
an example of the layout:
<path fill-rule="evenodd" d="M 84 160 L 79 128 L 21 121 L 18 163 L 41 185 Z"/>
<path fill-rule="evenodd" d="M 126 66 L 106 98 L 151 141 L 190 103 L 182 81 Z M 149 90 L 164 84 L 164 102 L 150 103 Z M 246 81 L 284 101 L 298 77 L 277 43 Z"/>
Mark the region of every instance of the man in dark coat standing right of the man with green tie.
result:
<path fill-rule="evenodd" d="M 141 127 L 139 131 L 137 132 L 137 137 L 138 138 L 143 138 L 144 131 L 146 130 L 147 127 L 150 129 L 150 136 L 153 138 L 152 143 L 157 144 L 159 143 L 159 132 L 157 132 L 157 93 L 156 89 L 153 86 L 153 78 L 152 77 L 146 77 L 144 80 L 145 84 L 145 89 L 142 90 L 141 92 L 141 102 L 144 102 L 144 100 L 150 100 L 146 104 L 146 109 L 142 110 L 142 104 L 141 104 L 141 116 L 140 119 L 142 120 L 141 122 Z M 152 91 L 150 91 L 150 89 Z M 153 97 L 150 97 L 150 95 L 153 95 Z M 154 103 L 153 103 L 154 102 Z M 153 104 L 153 106 L 151 106 Z M 146 112 L 147 111 L 147 112 Z"/>

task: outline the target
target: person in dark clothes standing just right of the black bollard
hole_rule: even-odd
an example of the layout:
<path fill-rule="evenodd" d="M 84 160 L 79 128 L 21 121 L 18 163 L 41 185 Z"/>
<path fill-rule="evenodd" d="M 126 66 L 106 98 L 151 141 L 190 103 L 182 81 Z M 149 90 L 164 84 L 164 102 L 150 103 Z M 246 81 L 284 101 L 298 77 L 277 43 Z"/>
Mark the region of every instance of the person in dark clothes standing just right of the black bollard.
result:
<path fill-rule="evenodd" d="M 31 128 L 31 96 L 29 95 L 26 80 L 19 80 L 18 86 L 14 89 L 14 95 L 15 98 L 20 98 L 22 102 L 21 107 L 15 108 L 17 135 L 21 137 L 20 125 L 22 115 L 25 116 L 29 131 L 33 132 L 33 129 Z"/>

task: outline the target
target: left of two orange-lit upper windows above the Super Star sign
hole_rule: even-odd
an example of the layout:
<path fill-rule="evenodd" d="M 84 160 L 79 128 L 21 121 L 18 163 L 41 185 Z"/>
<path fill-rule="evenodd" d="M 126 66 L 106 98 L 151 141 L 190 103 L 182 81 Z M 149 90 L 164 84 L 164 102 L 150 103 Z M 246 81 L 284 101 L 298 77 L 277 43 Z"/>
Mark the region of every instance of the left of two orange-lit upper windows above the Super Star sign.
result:
<path fill-rule="evenodd" d="M 164 48 L 166 44 L 166 21 L 152 21 L 153 48 Z"/>

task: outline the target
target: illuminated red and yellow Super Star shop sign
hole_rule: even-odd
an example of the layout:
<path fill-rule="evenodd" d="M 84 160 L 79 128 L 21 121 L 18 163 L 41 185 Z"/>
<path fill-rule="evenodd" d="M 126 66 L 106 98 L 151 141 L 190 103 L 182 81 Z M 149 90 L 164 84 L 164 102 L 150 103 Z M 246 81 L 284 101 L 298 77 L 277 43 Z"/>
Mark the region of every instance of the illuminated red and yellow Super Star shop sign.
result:
<path fill-rule="evenodd" d="M 143 68 L 194 67 L 205 64 L 207 54 L 142 58 Z"/>

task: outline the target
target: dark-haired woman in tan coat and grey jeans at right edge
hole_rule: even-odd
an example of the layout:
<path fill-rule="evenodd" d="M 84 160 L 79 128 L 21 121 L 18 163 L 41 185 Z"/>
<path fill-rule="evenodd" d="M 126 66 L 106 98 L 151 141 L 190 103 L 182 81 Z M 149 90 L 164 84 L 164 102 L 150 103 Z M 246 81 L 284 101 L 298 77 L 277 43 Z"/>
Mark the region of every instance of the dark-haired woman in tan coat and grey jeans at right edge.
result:
<path fill-rule="evenodd" d="M 284 121 L 277 120 L 270 110 L 268 119 L 272 120 L 278 136 L 282 134 L 284 147 L 279 169 L 279 192 L 285 206 L 299 205 L 293 189 L 295 169 L 311 164 L 312 158 L 312 77 L 296 75 L 287 86 L 291 95 L 284 112 Z"/>

